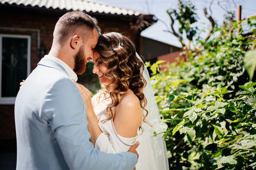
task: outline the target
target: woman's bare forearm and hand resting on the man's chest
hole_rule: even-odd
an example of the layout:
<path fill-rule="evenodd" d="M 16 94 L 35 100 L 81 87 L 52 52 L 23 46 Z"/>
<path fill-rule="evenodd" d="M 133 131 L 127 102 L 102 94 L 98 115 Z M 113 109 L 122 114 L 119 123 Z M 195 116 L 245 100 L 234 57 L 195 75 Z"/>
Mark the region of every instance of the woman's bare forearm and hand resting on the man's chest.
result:
<path fill-rule="evenodd" d="M 75 82 L 76 83 L 76 82 Z M 76 83 L 77 88 L 79 89 L 81 96 L 84 99 L 86 106 L 86 117 L 88 120 L 88 131 L 91 134 L 91 142 L 95 145 L 97 138 L 100 136 L 102 131 L 98 125 L 98 118 L 96 117 L 93 107 L 92 107 L 92 93 L 90 90 L 86 89 L 83 85 Z"/>

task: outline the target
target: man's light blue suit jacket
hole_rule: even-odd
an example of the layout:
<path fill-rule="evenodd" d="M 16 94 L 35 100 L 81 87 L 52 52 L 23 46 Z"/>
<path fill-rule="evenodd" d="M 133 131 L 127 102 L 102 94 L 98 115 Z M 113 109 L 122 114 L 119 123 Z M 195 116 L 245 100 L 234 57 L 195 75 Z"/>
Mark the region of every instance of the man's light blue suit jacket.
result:
<path fill-rule="evenodd" d="M 134 153 L 93 148 L 87 125 L 76 85 L 58 62 L 44 57 L 15 101 L 17 169 L 133 169 Z"/>

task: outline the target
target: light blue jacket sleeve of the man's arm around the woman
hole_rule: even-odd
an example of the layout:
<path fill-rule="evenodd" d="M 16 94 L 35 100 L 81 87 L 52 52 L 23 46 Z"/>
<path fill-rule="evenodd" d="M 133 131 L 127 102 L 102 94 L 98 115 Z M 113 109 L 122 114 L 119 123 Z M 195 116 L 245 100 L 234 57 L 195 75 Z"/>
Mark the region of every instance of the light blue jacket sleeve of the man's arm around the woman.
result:
<path fill-rule="evenodd" d="M 86 109 L 76 85 L 60 78 L 51 85 L 40 111 L 60 145 L 70 169 L 133 169 L 134 153 L 100 152 L 90 142 Z"/>

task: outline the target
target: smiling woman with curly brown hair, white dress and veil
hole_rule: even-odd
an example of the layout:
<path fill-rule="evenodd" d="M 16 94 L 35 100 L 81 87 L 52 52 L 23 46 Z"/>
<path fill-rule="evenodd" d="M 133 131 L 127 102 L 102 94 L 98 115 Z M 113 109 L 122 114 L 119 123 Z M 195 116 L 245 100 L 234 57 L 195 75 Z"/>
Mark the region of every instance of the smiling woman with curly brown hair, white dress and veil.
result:
<path fill-rule="evenodd" d="M 93 55 L 93 73 L 104 89 L 91 92 L 76 83 L 86 104 L 88 131 L 102 152 L 126 152 L 140 142 L 136 169 L 168 169 L 166 146 L 150 78 L 132 41 L 109 32 L 99 37 Z"/>

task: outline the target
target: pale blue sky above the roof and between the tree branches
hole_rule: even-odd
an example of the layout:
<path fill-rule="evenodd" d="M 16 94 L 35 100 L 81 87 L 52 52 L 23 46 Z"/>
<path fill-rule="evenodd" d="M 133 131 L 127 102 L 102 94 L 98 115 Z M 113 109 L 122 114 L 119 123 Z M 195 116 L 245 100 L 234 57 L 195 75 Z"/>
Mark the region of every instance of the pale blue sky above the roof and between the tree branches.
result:
<path fill-rule="evenodd" d="M 170 18 L 166 13 L 166 10 L 176 8 L 177 0 L 95 0 L 104 4 L 111 4 L 114 6 L 119 6 L 122 8 L 127 8 L 136 11 L 142 11 L 144 13 L 151 13 L 155 15 L 157 18 L 163 20 L 166 25 L 170 25 Z M 218 5 L 218 1 L 223 0 L 215 0 L 212 4 L 212 17 L 214 20 L 218 22 L 219 25 L 223 22 L 223 15 L 225 11 L 221 9 Z M 240 4 L 242 6 L 242 18 L 249 17 L 251 15 L 256 14 L 256 0 L 230 0 L 230 7 L 232 10 L 237 11 L 237 6 L 234 6 L 232 1 L 235 1 L 236 4 Z M 198 27 L 200 29 L 207 30 L 209 28 L 210 22 L 205 18 L 203 9 L 205 7 L 209 7 L 211 0 L 191 0 L 196 7 L 196 11 L 198 12 Z M 148 5 L 147 5 L 148 4 Z M 208 10 L 208 13 L 210 11 Z M 161 41 L 163 43 L 167 43 L 174 46 L 180 46 L 179 40 L 166 32 L 166 25 L 163 22 L 157 21 L 156 24 L 148 27 L 144 31 L 141 32 L 141 36 L 146 38 L 155 39 L 157 41 Z M 177 28 L 177 25 L 175 26 Z M 206 36 L 207 31 L 202 32 L 202 37 Z"/>

